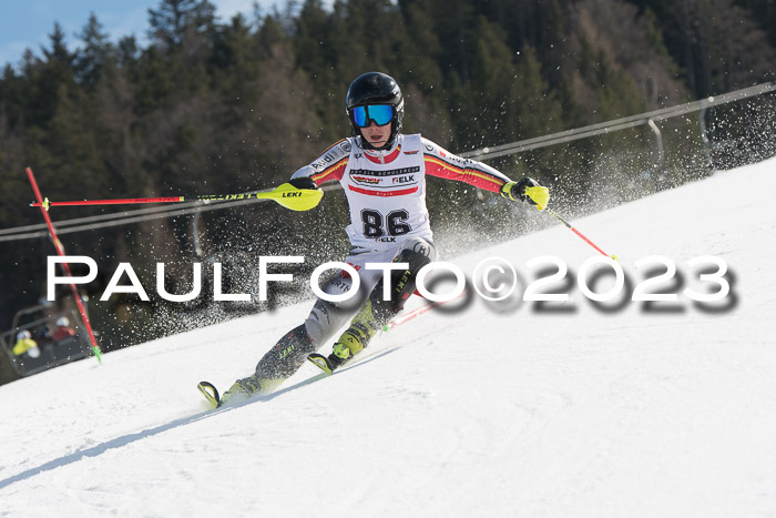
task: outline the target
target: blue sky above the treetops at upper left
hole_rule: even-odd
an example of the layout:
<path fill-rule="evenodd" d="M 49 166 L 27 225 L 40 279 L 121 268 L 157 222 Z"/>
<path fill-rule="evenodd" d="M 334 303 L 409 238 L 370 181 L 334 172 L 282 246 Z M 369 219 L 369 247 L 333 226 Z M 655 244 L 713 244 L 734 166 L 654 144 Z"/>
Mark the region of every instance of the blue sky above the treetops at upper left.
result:
<path fill-rule="evenodd" d="M 118 41 L 134 34 L 145 41 L 149 27 L 149 8 L 155 9 L 161 0 L 0 0 L 0 67 L 17 65 L 24 49 L 42 55 L 41 45 L 49 47 L 48 34 L 58 21 L 71 49 L 79 45 L 78 37 L 94 12 L 103 30 Z M 254 0 L 211 0 L 222 21 L 237 12 L 251 17 Z M 259 0 L 259 8 L 267 12 L 273 6 L 284 6 L 284 0 Z"/>

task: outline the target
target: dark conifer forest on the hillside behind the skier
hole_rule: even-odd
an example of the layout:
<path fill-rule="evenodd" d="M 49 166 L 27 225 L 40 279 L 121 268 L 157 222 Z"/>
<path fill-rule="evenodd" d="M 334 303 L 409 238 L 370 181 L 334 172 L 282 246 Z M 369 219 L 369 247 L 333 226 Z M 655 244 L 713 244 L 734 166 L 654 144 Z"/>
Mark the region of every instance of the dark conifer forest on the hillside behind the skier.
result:
<path fill-rule="evenodd" d="M 307 0 L 229 20 L 216 18 L 207 0 L 161 0 L 149 10 L 147 27 L 141 45 L 135 37 L 111 41 L 95 16 L 76 35 L 55 24 L 44 48 L 4 65 L 0 228 L 41 222 L 28 206 L 25 166 L 51 200 L 275 186 L 350 134 L 345 92 L 371 70 L 401 85 L 405 132 L 452 152 L 717 95 L 773 81 L 776 71 L 770 0 L 336 0 L 331 8 Z M 769 95 L 719 110 L 709 124 L 717 136 L 746 133 L 751 128 L 742 126 L 752 121 L 773 129 L 775 111 Z M 649 167 L 654 150 L 643 129 L 492 165 L 515 179 L 535 177 L 569 214 L 581 214 L 591 200 L 605 206 L 707 174 L 697 124 L 697 115 L 665 124 L 670 160 L 662 171 Z M 537 220 L 466 187 L 429 181 L 442 250 L 515 236 Z M 52 216 L 105 212 L 115 211 L 68 207 Z M 208 212 L 197 221 L 196 240 L 193 216 L 182 216 L 63 241 L 69 253 L 100 264 L 86 292 L 110 348 L 182 322 L 159 302 L 98 303 L 120 262 L 147 275 L 150 292 L 156 262 L 180 264 L 180 278 L 203 257 L 229 257 L 249 270 L 259 254 L 298 254 L 312 270 L 341 258 L 345 221 L 344 196 L 334 192 L 310 213 L 269 204 Z M 44 294 L 51 254 L 45 238 L 0 243 L 0 331 Z M 146 325 L 161 319 L 166 327 Z"/>

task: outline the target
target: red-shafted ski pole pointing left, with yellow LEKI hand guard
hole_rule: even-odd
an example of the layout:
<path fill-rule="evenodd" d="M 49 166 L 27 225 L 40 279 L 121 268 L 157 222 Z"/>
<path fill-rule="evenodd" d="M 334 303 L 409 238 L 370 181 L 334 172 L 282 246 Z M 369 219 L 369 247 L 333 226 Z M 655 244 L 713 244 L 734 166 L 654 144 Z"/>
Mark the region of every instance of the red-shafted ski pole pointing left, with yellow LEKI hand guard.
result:
<path fill-rule="evenodd" d="M 234 200 L 274 200 L 292 211 L 309 211 L 315 207 L 323 197 L 324 192 L 317 189 L 297 189 L 290 183 L 284 183 L 270 191 L 253 191 L 238 194 L 202 194 L 197 196 L 169 196 L 169 197 L 126 197 L 118 200 L 75 200 L 70 202 L 32 202 L 30 206 L 40 206 L 48 211 L 52 206 L 74 205 L 122 205 L 134 203 L 178 203 L 188 201 L 234 201 Z"/>

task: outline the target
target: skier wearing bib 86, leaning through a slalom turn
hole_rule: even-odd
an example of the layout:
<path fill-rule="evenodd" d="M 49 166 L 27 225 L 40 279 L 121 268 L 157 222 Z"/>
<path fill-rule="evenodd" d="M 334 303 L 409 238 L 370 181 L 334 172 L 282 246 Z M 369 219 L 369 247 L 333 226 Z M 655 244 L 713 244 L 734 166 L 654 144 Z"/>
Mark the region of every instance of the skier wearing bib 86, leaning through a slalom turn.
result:
<path fill-rule="evenodd" d="M 426 209 L 426 175 L 466 182 L 539 210 L 550 199 L 548 189 L 531 179 L 513 182 L 493 167 L 456 156 L 419 134 L 402 134 L 404 98 L 389 75 L 369 72 L 356 78 L 346 95 L 346 111 L 354 136 L 340 140 L 296 171 L 289 183 L 297 189 L 318 189 L 330 181 L 341 184 L 350 209 L 346 232 L 351 248 L 346 263 L 358 273 L 360 296 L 341 303 L 319 298 L 307 319 L 264 355 L 253 375 L 236 380 L 222 402 L 272 392 L 308 356 L 324 370 L 334 370 L 364 349 L 376 331 L 401 311 L 415 292 L 418 271 L 437 256 Z M 390 262 L 408 267 L 390 271 L 389 278 L 384 278 L 382 271 L 365 267 L 366 263 Z M 324 292 L 344 294 L 353 282 L 341 271 Z M 388 301 L 384 301 L 386 282 L 390 283 Z M 328 357 L 314 354 L 351 317 Z"/>

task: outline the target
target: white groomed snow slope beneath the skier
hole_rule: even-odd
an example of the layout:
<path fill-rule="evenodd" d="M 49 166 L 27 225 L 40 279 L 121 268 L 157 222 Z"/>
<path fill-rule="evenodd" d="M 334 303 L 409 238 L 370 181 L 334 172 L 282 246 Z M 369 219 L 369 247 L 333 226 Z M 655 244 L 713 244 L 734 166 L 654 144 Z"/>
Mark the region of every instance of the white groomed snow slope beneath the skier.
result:
<path fill-rule="evenodd" d="M 453 262 L 532 280 L 529 260 L 559 256 L 547 291 L 568 303 L 520 284 L 453 302 L 266 399 L 207 412 L 195 386 L 252 373 L 312 302 L 2 386 L 0 515 L 776 516 L 774 193 L 772 159 L 574 222 L 632 284 L 665 271 L 639 260 L 672 260 L 650 291 L 675 303 L 596 308 L 576 286 L 596 254 L 558 225 Z M 702 255 L 728 265 L 721 303 L 681 294 L 718 291 L 687 265 Z"/>

